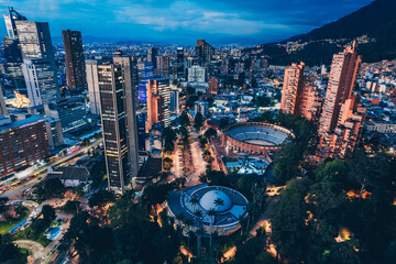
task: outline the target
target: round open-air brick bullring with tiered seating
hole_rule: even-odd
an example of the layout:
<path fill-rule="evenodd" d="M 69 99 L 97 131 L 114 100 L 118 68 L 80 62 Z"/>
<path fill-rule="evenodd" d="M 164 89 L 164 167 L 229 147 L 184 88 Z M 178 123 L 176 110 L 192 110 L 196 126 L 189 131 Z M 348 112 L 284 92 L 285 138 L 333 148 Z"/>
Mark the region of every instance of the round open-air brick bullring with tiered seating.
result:
<path fill-rule="evenodd" d="M 295 135 L 279 125 L 245 122 L 231 124 L 221 136 L 227 153 L 265 155 L 275 152 L 289 136 Z"/>

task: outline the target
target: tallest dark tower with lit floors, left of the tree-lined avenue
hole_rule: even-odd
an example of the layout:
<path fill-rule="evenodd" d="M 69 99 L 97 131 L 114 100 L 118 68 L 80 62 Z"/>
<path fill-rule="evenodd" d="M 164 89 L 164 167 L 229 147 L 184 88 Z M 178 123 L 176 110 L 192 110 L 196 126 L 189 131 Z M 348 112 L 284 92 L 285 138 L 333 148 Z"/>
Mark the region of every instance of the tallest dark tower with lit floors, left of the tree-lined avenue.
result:
<path fill-rule="evenodd" d="M 123 194 L 138 176 L 139 153 L 136 118 L 131 117 L 136 86 L 130 84 L 128 59 L 121 61 L 98 65 L 98 80 L 109 190 Z"/>

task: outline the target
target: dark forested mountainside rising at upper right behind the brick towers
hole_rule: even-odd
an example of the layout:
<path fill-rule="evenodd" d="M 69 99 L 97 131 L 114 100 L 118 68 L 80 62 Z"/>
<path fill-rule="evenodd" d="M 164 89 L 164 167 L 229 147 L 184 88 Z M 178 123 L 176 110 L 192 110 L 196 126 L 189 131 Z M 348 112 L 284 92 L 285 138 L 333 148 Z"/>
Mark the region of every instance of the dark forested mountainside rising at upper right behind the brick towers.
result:
<path fill-rule="evenodd" d="M 376 0 L 369 6 L 280 43 L 263 44 L 246 52 L 267 55 L 271 64 L 330 64 L 332 54 L 358 38 L 364 62 L 396 58 L 396 0 Z M 287 44 L 288 43 L 288 44 Z"/>

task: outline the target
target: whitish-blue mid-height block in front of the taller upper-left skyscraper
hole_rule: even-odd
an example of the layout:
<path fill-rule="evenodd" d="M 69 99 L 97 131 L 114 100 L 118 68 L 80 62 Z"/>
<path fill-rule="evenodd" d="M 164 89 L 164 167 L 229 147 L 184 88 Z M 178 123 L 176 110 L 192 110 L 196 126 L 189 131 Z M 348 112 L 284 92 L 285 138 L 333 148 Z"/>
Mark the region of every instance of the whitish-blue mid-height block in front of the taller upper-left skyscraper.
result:
<path fill-rule="evenodd" d="M 31 107 L 47 103 L 59 97 L 57 76 L 50 61 L 24 59 L 22 72 Z"/>

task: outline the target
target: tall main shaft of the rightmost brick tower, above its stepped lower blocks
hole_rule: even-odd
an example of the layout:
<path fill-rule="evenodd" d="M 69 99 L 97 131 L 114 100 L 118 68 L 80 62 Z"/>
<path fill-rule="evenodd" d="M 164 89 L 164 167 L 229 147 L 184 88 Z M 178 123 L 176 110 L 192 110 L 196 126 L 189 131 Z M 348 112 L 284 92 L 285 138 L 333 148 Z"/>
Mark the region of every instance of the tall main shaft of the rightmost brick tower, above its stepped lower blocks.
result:
<path fill-rule="evenodd" d="M 360 62 L 361 57 L 358 56 L 355 44 L 334 54 L 320 118 L 319 131 L 321 133 L 334 131 L 341 105 L 352 95 Z"/>

